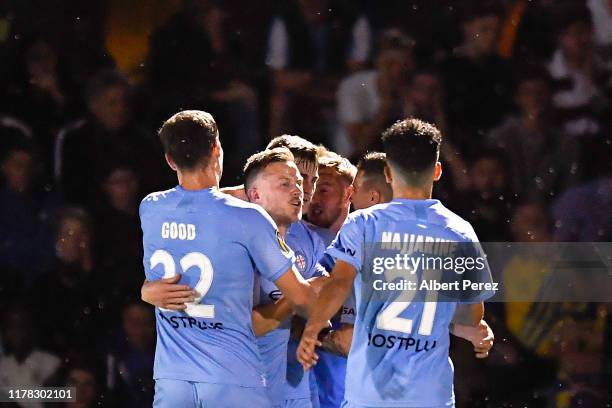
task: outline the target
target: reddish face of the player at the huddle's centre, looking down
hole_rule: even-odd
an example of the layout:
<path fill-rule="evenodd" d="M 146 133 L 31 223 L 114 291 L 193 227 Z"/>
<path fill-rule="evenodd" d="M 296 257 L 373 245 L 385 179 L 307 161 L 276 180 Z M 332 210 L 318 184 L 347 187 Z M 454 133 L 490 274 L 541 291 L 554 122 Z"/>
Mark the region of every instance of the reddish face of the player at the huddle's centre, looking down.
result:
<path fill-rule="evenodd" d="M 342 176 L 335 170 L 319 169 L 319 181 L 308 210 L 308 220 L 319 227 L 329 228 L 342 215 L 346 189 Z"/>

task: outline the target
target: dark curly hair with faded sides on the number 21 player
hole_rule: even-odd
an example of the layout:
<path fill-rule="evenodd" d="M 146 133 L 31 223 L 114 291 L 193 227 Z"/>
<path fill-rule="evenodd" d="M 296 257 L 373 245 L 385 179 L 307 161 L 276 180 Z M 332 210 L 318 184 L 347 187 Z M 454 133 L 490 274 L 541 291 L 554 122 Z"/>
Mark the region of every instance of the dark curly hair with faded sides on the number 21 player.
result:
<path fill-rule="evenodd" d="M 440 157 L 442 135 L 432 124 L 404 119 L 385 130 L 382 141 L 389 165 L 401 172 L 406 183 L 420 186 Z"/>

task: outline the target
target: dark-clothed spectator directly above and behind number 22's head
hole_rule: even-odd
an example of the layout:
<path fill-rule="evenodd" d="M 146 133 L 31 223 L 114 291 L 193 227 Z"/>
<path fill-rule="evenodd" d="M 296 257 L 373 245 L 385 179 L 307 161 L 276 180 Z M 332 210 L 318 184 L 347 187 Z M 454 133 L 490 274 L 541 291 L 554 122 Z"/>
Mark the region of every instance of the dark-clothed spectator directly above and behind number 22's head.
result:
<path fill-rule="evenodd" d="M 261 144 L 255 76 L 242 56 L 221 2 L 183 0 L 183 7 L 151 36 L 149 86 L 155 122 L 177 110 L 207 107 L 223 129 L 226 180 Z M 198 50 L 198 52 L 194 52 Z"/>

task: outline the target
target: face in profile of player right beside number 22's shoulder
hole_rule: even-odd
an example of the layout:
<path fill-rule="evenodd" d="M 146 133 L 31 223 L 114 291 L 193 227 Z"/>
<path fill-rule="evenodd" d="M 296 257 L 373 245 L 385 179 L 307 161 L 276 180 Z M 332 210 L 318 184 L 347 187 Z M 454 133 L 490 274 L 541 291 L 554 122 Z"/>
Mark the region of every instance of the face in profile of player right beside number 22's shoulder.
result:
<path fill-rule="evenodd" d="M 302 176 L 294 162 L 269 164 L 253 183 L 256 198 L 279 225 L 302 218 Z"/>

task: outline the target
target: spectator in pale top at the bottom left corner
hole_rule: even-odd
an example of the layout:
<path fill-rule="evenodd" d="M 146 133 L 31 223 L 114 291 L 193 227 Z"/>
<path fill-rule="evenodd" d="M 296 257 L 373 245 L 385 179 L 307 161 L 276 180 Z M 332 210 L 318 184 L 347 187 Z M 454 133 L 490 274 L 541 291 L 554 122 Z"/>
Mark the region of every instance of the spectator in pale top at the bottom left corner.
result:
<path fill-rule="evenodd" d="M 5 354 L 0 356 L 0 386 L 31 389 L 47 386 L 60 367 L 61 360 L 37 347 L 36 324 L 30 310 L 15 304 L 3 311 L 2 338 Z M 40 401 L 17 406 L 42 408 Z"/>

